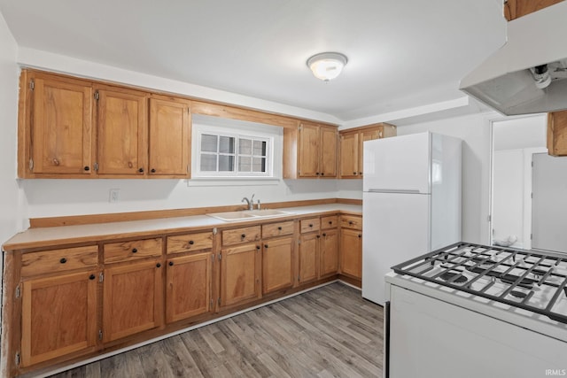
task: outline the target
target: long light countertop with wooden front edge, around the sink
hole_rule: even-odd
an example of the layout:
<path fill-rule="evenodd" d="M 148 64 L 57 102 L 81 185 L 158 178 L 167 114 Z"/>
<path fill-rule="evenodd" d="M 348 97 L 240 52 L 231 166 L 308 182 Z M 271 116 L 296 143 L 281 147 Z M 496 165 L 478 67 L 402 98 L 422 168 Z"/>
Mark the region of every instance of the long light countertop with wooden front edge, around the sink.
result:
<path fill-rule="evenodd" d="M 291 212 L 290 215 L 253 220 L 224 221 L 208 215 L 163 218 L 154 220 L 128 220 L 89 225 L 61 226 L 51 228 L 29 228 L 12 236 L 3 245 L 3 251 L 25 250 L 37 247 L 51 247 L 64 243 L 99 242 L 130 236 L 156 235 L 190 231 L 204 228 L 232 228 L 258 222 L 289 220 L 308 215 L 330 212 L 362 214 L 362 206 L 356 204 L 316 204 L 288 207 L 278 210 Z"/>

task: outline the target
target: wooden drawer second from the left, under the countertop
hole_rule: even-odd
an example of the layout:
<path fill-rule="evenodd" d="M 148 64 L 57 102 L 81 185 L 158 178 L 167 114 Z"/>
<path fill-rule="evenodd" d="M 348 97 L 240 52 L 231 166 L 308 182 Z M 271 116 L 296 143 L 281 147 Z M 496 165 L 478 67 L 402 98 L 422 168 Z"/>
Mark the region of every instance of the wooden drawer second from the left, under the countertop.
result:
<path fill-rule="evenodd" d="M 104 256 L 106 263 L 128 261 L 136 258 L 150 258 L 161 256 L 161 238 L 131 240 L 122 243 L 105 244 Z"/>

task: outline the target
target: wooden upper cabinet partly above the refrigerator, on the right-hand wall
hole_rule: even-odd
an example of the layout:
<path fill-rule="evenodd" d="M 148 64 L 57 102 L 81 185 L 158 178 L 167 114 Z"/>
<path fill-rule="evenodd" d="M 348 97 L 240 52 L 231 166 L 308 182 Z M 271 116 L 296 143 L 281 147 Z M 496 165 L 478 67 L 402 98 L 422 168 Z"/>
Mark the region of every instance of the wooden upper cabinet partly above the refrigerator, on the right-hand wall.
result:
<path fill-rule="evenodd" d="M 363 176 L 364 142 L 396 135 L 396 127 L 379 123 L 340 132 L 339 178 L 361 179 Z"/>

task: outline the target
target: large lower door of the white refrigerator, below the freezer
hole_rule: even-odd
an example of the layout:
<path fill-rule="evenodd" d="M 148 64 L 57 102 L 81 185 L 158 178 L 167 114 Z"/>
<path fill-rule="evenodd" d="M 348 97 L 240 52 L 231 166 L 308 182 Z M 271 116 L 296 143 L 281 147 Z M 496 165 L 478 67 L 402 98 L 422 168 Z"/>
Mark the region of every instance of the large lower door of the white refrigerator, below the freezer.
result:
<path fill-rule="evenodd" d="M 384 305 L 384 274 L 430 251 L 430 197 L 362 194 L 362 297 Z"/>

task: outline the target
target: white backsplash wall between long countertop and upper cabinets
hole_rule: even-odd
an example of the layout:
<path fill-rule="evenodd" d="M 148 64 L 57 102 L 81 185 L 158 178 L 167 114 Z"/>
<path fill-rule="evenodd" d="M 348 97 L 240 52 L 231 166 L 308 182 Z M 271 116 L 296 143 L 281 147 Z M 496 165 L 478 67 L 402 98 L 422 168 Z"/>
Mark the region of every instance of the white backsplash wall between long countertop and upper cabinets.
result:
<path fill-rule="evenodd" d="M 187 180 L 23 180 L 27 218 L 140 212 L 337 197 L 337 180 L 285 180 L 270 185 L 188 186 Z M 109 202 L 110 189 L 119 201 Z"/>

